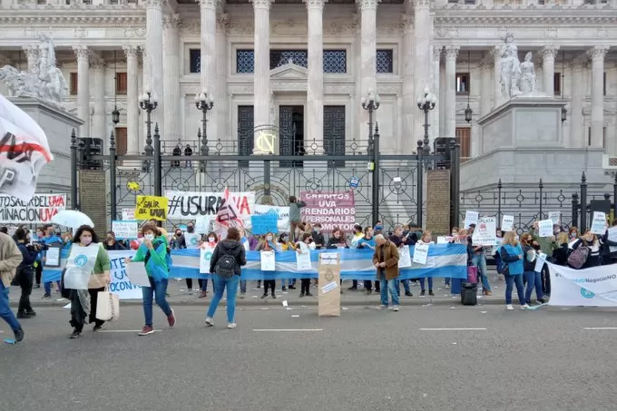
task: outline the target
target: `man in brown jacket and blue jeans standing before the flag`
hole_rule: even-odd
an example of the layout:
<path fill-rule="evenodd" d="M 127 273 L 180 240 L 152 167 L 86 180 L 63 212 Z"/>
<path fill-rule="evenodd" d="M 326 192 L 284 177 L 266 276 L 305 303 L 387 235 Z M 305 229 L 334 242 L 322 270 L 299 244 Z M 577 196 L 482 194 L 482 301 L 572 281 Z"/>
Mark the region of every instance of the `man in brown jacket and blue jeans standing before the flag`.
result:
<path fill-rule="evenodd" d="M 382 234 L 375 236 L 377 247 L 373 254 L 373 265 L 377 269 L 377 279 L 379 279 L 381 289 L 380 309 L 388 307 L 388 292 L 392 298 L 392 309 L 398 311 L 398 248 Z"/>

